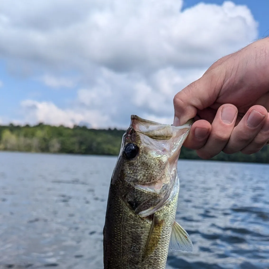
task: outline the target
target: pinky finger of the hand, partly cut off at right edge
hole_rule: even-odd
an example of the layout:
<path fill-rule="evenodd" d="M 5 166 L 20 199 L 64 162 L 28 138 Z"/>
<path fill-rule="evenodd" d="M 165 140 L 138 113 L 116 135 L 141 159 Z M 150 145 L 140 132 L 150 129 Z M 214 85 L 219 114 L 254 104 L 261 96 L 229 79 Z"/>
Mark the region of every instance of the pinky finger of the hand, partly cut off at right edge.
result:
<path fill-rule="evenodd" d="M 269 116 L 269 115 L 268 115 Z M 261 148 L 267 144 L 269 140 L 269 118 L 263 125 L 263 128 L 256 135 L 256 137 L 241 150 L 244 154 L 252 154 L 261 150 Z"/>

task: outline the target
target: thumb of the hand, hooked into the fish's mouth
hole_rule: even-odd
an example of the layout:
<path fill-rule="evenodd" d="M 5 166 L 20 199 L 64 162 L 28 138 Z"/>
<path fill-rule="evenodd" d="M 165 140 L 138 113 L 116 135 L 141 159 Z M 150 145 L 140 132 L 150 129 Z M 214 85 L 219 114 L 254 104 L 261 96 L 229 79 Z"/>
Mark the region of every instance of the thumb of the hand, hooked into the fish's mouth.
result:
<path fill-rule="evenodd" d="M 202 110 L 214 104 L 223 82 L 224 78 L 220 79 L 220 74 L 212 70 L 177 93 L 174 97 L 173 125 L 185 124 L 196 116 L 198 109 Z"/>

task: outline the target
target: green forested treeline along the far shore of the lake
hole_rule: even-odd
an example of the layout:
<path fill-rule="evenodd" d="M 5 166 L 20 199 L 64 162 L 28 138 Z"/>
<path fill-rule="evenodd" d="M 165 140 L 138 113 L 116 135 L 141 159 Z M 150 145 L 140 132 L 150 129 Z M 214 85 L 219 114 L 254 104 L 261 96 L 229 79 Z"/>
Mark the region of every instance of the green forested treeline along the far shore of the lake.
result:
<path fill-rule="evenodd" d="M 36 126 L 0 126 L 0 150 L 118 155 L 125 130 L 88 129 L 85 126 L 50 126 L 40 123 Z M 197 159 L 194 150 L 182 148 L 179 158 Z M 220 153 L 212 160 L 269 163 L 269 149 L 251 155 L 242 153 Z"/>

